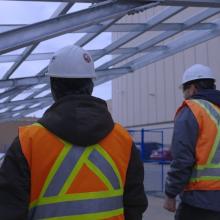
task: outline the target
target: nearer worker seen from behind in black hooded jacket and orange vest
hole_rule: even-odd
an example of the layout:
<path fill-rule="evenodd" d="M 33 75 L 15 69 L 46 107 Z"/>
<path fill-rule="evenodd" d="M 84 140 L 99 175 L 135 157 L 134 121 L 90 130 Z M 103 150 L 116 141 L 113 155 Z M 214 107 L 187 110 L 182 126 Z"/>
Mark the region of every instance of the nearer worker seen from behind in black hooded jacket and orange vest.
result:
<path fill-rule="evenodd" d="M 47 75 L 55 103 L 19 128 L 0 170 L 0 219 L 141 220 L 144 169 L 131 136 L 91 96 L 94 63 L 67 46 Z"/>

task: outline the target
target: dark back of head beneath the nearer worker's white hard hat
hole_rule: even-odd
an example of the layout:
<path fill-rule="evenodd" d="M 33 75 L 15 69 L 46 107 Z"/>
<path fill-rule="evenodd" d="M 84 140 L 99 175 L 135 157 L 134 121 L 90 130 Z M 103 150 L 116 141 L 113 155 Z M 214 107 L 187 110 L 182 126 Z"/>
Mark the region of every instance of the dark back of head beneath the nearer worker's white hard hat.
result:
<path fill-rule="evenodd" d="M 91 95 L 93 81 L 90 78 L 56 78 L 50 77 L 51 92 L 55 101 L 68 95 Z"/>

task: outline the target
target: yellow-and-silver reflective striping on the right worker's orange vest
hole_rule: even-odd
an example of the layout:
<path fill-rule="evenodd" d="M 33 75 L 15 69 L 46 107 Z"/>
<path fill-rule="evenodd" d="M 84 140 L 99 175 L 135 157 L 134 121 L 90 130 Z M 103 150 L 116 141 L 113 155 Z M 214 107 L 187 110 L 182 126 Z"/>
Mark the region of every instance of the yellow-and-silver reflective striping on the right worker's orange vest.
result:
<path fill-rule="evenodd" d="M 190 182 L 220 180 L 220 110 L 205 100 L 190 100 L 203 108 L 216 125 L 217 134 L 211 147 L 208 160 L 204 165 L 196 165 Z M 206 125 L 203 125 L 206 126 Z"/>

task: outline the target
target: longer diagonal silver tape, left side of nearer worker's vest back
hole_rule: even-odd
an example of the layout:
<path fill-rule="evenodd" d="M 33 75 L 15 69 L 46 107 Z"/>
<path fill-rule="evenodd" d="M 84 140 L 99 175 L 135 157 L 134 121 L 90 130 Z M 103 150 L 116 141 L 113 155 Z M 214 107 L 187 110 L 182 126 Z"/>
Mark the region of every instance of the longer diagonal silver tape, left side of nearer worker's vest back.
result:
<path fill-rule="evenodd" d="M 56 196 L 80 159 L 85 147 L 73 146 L 54 175 L 43 197 Z"/>

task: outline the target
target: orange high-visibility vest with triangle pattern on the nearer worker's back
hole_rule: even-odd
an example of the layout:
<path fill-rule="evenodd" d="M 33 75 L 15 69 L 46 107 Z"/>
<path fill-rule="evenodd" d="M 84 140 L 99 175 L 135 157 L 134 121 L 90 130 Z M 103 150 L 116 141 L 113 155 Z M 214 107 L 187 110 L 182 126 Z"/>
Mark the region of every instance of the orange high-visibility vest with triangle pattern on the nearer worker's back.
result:
<path fill-rule="evenodd" d="M 124 220 L 132 139 L 119 124 L 88 147 L 40 124 L 19 128 L 19 139 L 31 173 L 29 219 Z"/>

